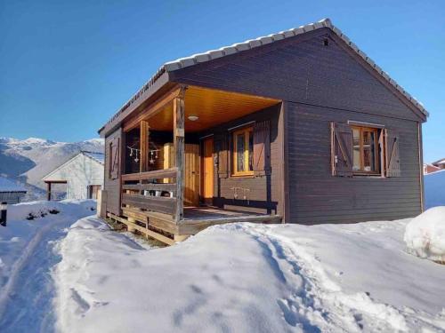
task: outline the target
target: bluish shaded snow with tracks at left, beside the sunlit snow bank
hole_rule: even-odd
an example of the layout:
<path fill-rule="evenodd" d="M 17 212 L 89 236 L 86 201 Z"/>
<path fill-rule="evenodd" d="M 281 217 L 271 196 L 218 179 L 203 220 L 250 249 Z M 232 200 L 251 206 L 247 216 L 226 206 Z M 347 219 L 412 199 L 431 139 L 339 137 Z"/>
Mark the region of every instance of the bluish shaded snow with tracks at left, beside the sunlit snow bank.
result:
<path fill-rule="evenodd" d="M 0 332 L 51 332 L 53 246 L 78 218 L 94 213 L 92 200 L 10 205 L 0 226 Z M 27 219 L 31 216 L 34 219 Z"/>

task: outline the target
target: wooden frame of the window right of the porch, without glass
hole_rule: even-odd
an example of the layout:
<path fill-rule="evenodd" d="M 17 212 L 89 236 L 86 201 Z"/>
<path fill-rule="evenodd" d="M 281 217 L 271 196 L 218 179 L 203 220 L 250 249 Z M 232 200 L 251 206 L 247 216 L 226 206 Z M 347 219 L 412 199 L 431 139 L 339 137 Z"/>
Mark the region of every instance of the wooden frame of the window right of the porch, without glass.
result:
<path fill-rule="evenodd" d="M 379 137 L 381 135 L 381 128 L 378 127 L 370 127 L 370 126 L 360 126 L 356 124 L 351 124 L 351 130 L 352 130 L 352 174 L 356 176 L 379 176 L 382 174 L 382 149 L 379 145 Z M 354 137 L 353 132 L 354 130 L 359 130 L 360 138 L 359 138 L 359 154 L 360 154 L 360 170 L 353 170 L 354 163 L 353 163 L 353 154 L 354 154 Z M 376 165 L 376 170 L 364 170 L 364 135 L 363 131 L 369 131 L 374 132 L 374 163 Z"/>

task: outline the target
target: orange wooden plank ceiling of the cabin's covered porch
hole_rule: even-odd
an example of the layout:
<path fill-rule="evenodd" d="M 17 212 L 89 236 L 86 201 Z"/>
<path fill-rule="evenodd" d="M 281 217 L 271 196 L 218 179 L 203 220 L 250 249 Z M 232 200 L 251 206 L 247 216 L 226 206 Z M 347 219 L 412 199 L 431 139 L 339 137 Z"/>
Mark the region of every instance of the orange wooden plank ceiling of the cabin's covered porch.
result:
<path fill-rule="evenodd" d="M 279 102 L 279 99 L 189 86 L 184 97 L 185 131 L 204 131 Z M 190 115 L 197 115 L 198 120 L 190 121 Z M 164 110 L 147 120 L 151 130 L 172 131 L 173 104 L 169 103 Z"/>

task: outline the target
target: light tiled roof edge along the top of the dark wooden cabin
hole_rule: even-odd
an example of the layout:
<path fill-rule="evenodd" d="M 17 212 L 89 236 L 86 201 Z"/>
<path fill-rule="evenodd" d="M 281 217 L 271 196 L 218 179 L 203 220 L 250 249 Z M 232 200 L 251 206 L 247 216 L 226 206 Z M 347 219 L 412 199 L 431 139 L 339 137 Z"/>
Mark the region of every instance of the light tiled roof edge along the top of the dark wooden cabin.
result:
<path fill-rule="evenodd" d="M 155 83 L 157 83 L 158 78 L 165 73 L 173 72 L 175 70 L 182 69 L 185 67 L 194 66 L 199 63 L 203 63 L 203 62 L 210 61 L 213 59 L 222 58 L 222 57 L 225 57 L 225 56 L 228 56 L 231 54 L 251 50 L 256 47 L 261 47 L 266 44 L 275 43 L 277 41 L 280 41 L 280 40 L 283 40 L 283 39 L 286 39 L 289 37 L 302 35 L 309 31 L 320 29 L 320 28 L 331 29 L 336 34 L 336 36 L 339 36 L 344 41 L 344 43 L 346 43 L 347 45 L 349 45 L 352 48 L 352 50 L 354 52 L 356 52 L 362 59 L 364 59 L 366 62 L 368 62 L 369 66 L 373 67 L 379 75 L 384 77 L 384 80 L 386 80 L 388 83 L 392 84 L 392 86 L 395 89 L 400 91 L 401 94 L 409 100 L 409 102 L 411 102 L 415 107 L 417 107 L 417 109 L 419 111 L 422 112 L 422 114 L 424 114 L 425 116 L 429 115 L 428 111 L 426 111 L 425 107 L 422 105 L 421 102 L 419 102 L 416 98 L 411 96 L 408 91 L 405 91 L 401 87 L 401 85 L 399 83 L 396 83 L 381 67 L 376 65 L 376 63 L 372 59 L 370 59 L 365 52 L 361 51 L 356 44 L 353 44 L 352 41 L 346 35 L 344 35 L 344 33 L 339 28 L 336 28 L 336 26 L 334 26 L 332 24 L 331 20 L 323 19 L 318 22 L 307 24 L 305 26 L 300 26 L 298 28 L 291 28 L 291 29 L 288 29 L 285 31 L 280 31 L 277 34 L 261 36 L 261 37 L 255 38 L 255 39 L 249 39 L 243 43 L 232 44 L 230 46 L 223 46 L 222 48 L 220 48 L 218 50 L 211 50 L 211 51 L 207 51 L 207 52 L 203 52 L 203 53 L 197 53 L 197 54 L 193 54 L 189 57 L 175 59 L 173 61 L 168 61 L 164 65 L 159 67 L 159 69 L 155 73 L 155 75 L 151 76 L 150 80 L 147 83 L 142 85 L 142 88 L 139 91 L 137 91 L 134 94 L 134 96 L 131 99 L 129 99 L 124 104 L 124 106 L 122 106 L 117 111 L 117 113 L 115 115 L 113 115 L 113 117 L 109 120 L 109 122 L 106 123 L 106 125 L 109 123 L 112 123 L 114 120 L 117 119 L 118 115 L 122 114 L 135 101 L 142 98 L 142 95 L 144 94 L 144 92 L 150 90 L 150 88 Z M 101 127 L 99 132 L 101 132 L 105 128 L 106 125 Z"/>

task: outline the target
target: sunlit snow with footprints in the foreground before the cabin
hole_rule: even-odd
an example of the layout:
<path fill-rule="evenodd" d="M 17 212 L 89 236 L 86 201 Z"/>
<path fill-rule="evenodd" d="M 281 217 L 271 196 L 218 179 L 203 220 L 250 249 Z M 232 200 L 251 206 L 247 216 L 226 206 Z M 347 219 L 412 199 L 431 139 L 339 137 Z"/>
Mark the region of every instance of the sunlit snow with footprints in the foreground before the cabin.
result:
<path fill-rule="evenodd" d="M 66 332 L 444 331 L 445 266 L 411 256 L 409 219 L 214 226 L 148 249 L 98 218 L 53 271 Z"/>

